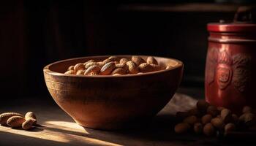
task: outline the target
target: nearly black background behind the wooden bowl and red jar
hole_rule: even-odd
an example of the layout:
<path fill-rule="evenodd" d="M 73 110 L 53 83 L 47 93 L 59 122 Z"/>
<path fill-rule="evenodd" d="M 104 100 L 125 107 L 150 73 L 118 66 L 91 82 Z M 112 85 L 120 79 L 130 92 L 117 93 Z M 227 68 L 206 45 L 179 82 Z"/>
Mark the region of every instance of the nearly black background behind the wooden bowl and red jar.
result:
<path fill-rule="evenodd" d="M 87 55 L 177 58 L 181 87 L 203 88 L 206 24 L 248 5 L 219 1 L 1 1 L 1 98 L 48 95 L 42 68 Z"/>

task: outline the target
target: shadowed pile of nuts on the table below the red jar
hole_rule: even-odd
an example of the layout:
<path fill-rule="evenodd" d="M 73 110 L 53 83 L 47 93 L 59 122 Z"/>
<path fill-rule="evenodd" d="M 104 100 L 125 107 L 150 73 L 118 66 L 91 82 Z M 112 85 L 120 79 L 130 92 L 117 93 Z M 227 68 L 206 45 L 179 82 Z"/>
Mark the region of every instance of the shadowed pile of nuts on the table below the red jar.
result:
<path fill-rule="evenodd" d="M 252 108 L 245 106 L 242 115 L 238 116 L 224 107 L 215 107 L 204 100 L 197 101 L 196 108 L 187 112 L 177 112 L 176 117 L 182 120 L 176 124 L 174 131 L 181 134 L 192 129 L 196 134 L 214 136 L 217 133 L 227 134 L 230 131 L 246 131 L 256 126 Z"/>

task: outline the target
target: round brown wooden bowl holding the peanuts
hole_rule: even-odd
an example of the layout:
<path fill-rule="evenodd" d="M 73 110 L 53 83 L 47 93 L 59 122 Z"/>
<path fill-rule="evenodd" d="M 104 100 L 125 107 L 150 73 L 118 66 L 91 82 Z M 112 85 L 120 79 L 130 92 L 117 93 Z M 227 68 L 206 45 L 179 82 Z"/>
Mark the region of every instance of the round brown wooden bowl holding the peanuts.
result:
<path fill-rule="evenodd" d="M 105 58 L 108 56 L 72 58 L 43 70 L 50 95 L 80 126 L 110 130 L 145 125 L 165 107 L 181 82 L 182 62 L 162 57 L 154 58 L 161 66 L 173 65 L 173 69 L 121 76 L 64 74 L 74 64 Z"/>

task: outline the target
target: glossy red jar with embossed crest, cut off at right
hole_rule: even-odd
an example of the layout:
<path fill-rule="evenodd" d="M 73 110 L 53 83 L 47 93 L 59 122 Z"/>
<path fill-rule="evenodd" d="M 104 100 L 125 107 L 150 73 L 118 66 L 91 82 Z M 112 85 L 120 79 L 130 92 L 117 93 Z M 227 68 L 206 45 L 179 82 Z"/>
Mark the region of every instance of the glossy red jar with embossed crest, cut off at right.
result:
<path fill-rule="evenodd" d="M 256 24 L 209 23 L 206 101 L 241 111 L 256 107 Z"/>

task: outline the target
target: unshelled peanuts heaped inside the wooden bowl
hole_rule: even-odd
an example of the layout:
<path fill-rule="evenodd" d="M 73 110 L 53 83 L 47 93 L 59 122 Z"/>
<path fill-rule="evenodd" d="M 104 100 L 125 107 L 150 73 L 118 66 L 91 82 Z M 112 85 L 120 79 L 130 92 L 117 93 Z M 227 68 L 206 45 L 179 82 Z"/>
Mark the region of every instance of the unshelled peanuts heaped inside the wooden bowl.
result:
<path fill-rule="evenodd" d="M 173 66 L 167 66 L 170 69 Z M 133 55 L 128 58 L 118 58 L 110 56 L 104 61 L 89 60 L 85 63 L 69 66 L 65 74 L 77 75 L 123 75 L 123 74 L 140 74 L 145 72 L 154 72 L 161 70 L 157 60 L 154 57 L 148 57 L 146 61 L 140 56 Z"/>

